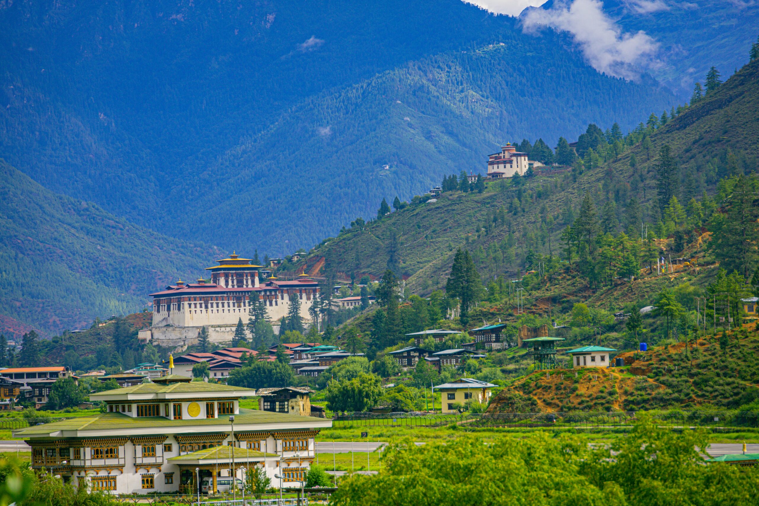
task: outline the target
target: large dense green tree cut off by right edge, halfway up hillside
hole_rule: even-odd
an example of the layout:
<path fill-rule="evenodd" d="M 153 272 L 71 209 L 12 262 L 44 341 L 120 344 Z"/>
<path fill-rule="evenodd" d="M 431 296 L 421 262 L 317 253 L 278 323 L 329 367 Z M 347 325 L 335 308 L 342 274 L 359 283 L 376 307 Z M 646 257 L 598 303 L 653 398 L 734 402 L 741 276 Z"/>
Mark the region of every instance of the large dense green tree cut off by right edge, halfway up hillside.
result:
<path fill-rule="evenodd" d="M 707 244 L 728 272 L 735 269 L 745 279 L 754 272 L 759 260 L 759 201 L 756 192 L 757 178 L 740 175 L 731 178 L 732 192 L 723 206 L 724 212 L 715 212 L 707 228 L 712 233 Z"/>

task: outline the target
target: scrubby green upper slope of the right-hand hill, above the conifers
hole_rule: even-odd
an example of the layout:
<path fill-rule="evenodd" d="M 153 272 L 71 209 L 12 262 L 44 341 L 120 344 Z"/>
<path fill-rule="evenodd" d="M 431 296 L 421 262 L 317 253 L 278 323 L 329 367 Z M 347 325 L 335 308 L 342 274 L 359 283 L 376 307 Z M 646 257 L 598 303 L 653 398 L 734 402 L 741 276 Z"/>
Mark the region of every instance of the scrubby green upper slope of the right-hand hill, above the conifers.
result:
<path fill-rule="evenodd" d="M 562 231 L 575 222 L 585 195 L 603 231 L 634 237 L 643 223 L 666 234 L 657 226 L 667 222 L 663 213 L 671 196 L 685 207 L 704 191 L 713 193 L 720 178 L 756 171 L 757 111 L 759 61 L 753 61 L 676 118 L 669 112 L 663 125 L 657 115 L 641 123 L 626 138 L 627 149 L 606 143 L 603 132 L 589 127 L 570 173 L 518 178 L 524 180 L 518 184 L 494 181 L 483 193 L 442 193 L 436 203 L 419 201 L 345 229 L 313 255 L 324 257 L 327 269 L 358 276 L 381 275 L 394 265 L 411 292 L 429 293 L 442 288 L 458 247 L 472 252 L 483 276 L 518 275 L 530 253 L 558 259 Z M 666 161 L 663 146 L 669 146 Z M 663 185 L 668 196 L 661 195 Z"/>

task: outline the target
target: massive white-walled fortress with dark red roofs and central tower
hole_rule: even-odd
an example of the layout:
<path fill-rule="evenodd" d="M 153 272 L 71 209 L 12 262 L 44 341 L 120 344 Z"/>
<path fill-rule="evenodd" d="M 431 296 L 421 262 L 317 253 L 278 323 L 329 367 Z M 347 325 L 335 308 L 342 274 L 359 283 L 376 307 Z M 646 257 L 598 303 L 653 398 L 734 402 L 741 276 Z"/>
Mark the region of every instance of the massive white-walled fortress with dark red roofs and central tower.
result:
<path fill-rule="evenodd" d="M 210 281 L 177 281 L 153 297 L 153 325 L 140 332 L 140 340 L 155 341 L 162 346 L 181 346 L 197 342 L 200 329 L 206 327 L 209 340 L 231 342 L 239 319 L 247 323 L 254 300 L 263 300 L 272 322 L 286 316 L 291 300 L 301 304 L 301 318 L 311 322 L 309 308 L 319 293 L 319 284 L 306 275 L 291 281 L 276 278 L 259 280 L 261 266 L 250 259 L 232 254 L 208 267 Z"/>

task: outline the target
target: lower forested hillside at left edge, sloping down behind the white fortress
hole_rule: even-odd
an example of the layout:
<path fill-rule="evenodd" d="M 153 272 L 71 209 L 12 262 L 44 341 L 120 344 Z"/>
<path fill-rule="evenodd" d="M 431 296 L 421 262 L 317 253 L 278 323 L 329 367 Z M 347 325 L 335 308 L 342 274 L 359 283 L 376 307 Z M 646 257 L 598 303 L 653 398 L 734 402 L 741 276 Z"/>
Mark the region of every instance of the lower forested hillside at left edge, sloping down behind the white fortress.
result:
<path fill-rule="evenodd" d="M 2 160 L 0 237 L 0 312 L 46 333 L 141 310 L 150 291 L 219 255 L 57 195 Z M 6 336 L 27 331 L 11 327 Z"/>

